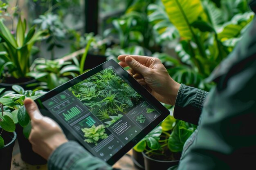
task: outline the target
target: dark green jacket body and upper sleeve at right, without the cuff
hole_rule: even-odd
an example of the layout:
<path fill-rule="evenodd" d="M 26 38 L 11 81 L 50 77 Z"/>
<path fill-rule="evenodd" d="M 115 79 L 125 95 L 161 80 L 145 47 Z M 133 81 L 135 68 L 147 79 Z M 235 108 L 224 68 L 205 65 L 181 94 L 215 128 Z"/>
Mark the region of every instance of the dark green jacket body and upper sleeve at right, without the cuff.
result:
<path fill-rule="evenodd" d="M 205 99 L 199 126 L 184 145 L 178 170 L 256 169 L 255 18 L 209 80 L 217 85 Z"/>

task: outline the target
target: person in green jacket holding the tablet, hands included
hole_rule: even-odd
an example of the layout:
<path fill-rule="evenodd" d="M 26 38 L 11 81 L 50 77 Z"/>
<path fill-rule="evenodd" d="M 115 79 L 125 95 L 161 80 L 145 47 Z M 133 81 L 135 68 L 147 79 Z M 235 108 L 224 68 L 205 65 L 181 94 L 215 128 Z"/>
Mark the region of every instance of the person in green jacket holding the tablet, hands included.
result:
<path fill-rule="evenodd" d="M 256 0 L 250 7 L 256 11 Z M 209 77 L 216 82 L 209 93 L 175 82 L 157 58 L 120 55 L 118 59 L 160 102 L 175 105 L 176 119 L 198 125 L 184 145 L 178 170 L 256 168 L 256 18 Z M 33 100 L 25 99 L 24 104 L 31 117 L 29 141 L 48 160 L 49 170 L 112 170 L 78 143 L 68 141 Z"/>

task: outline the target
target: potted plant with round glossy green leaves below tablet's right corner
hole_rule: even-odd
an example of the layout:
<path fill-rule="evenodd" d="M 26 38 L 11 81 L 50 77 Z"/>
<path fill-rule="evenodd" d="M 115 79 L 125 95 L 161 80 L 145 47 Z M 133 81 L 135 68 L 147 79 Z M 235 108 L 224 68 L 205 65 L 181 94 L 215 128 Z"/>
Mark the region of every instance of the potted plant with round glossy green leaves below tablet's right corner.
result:
<path fill-rule="evenodd" d="M 179 163 L 183 145 L 195 128 L 195 125 L 168 116 L 133 149 L 142 153 L 146 170 L 159 167 L 167 170 Z"/>

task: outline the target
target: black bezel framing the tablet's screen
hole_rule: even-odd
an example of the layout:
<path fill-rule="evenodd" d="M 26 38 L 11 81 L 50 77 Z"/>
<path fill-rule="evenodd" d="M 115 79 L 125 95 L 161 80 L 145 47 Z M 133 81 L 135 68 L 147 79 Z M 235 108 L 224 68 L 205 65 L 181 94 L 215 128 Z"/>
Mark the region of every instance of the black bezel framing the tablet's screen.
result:
<path fill-rule="evenodd" d="M 149 102 L 149 104 L 152 104 L 155 108 L 161 111 L 160 115 L 153 120 L 146 128 L 144 128 L 139 134 L 133 138 L 128 144 L 126 144 L 123 148 L 121 148 L 115 155 L 113 155 L 108 161 L 106 161 L 109 165 L 113 165 L 116 161 L 118 161 L 122 156 L 125 155 L 126 152 L 128 152 L 133 146 L 135 146 L 141 139 L 143 139 L 153 128 L 155 128 L 158 124 L 160 124 L 164 118 L 166 118 L 170 112 L 168 109 L 166 109 L 153 95 L 151 95 L 144 86 L 141 86 L 137 82 L 136 79 L 134 79 L 127 71 L 124 70 L 115 60 L 108 60 L 107 62 L 104 62 L 103 64 L 92 68 L 90 71 L 83 73 L 82 75 L 79 75 L 78 77 L 75 77 L 74 79 L 71 79 L 70 81 L 66 82 L 65 84 L 62 84 L 61 86 L 58 86 L 54 88 L 53 90 L 49 91 L 45 95 L 39 97 L 35 100 L 36 104 L 38 105 L 39 110 L 44 116 L 51 117 L 56 121 L 62 128 L 63 132 L 67 136 L 67 139 L 74 140 L 79 142 L 86 150 L 88 150 L 78 139 L 77 134 L 73 134 L 66 128 L 61 121 L 59 121 L 54 115 L 52 115 L 47 108 L 45 108 L 42 104 L 42 102 L 46 101 L 47 99 L 50 99 L 51 97 L 54 97 L 58 93 L 61 93 L 62 91 L 65 91 L 67 88 L 70 88 L 74 86 L 75 84 L 83 81 L 84 79 L 102 71 L 105 68 L 108 67 L 114 67 L 126 80 L 128 80 L 129 85 L 137 91 L 144 99 Z M 117 74 L 118 75 L 118 74 Z M 90 150 L 88 150 L 90 152 Z M 92 155 L 94 155 L 92 152 L 90 152 Z M 95 155 L 94 155 L 95 156 Z M 98 157 L 99 158 L 99 157 Z M 99 158 L 100 159 L 100 158 Z"/>

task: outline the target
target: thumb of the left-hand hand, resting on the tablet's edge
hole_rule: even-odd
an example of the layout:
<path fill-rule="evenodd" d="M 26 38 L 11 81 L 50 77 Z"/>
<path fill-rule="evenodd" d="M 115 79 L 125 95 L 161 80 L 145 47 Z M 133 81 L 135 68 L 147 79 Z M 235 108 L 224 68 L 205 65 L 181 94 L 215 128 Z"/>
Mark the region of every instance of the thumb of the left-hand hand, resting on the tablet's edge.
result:
<path fill-rule="evenodd" d="M 43 119 L 43 115 L 41 115 L 36 103 L 32 99 L 26 98 L 24 105 L 31 120 Z"/>

